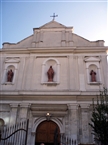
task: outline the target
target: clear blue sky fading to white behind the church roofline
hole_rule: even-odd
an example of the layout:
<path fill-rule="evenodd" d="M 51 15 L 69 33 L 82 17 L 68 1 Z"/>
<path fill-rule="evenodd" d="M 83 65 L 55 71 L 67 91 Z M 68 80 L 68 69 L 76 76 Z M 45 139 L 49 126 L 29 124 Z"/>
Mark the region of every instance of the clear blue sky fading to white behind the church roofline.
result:
<path fill-rule="evenodd" d="M 38 28 L 55 21 L 73 26 L 74 33 L 90 41 L 104 40 L 108 46 L 108 0 L 1 0 L 0 48 L 17 43 Z"/>

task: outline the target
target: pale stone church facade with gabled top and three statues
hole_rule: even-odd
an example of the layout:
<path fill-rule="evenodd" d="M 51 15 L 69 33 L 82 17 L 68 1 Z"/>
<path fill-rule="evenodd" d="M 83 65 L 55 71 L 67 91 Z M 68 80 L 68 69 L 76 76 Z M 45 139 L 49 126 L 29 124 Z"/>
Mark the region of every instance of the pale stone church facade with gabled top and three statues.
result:
<path fill-rule="evenodd" d="M 92 98 L 107 88 L 107 48 L 51 21 L 0 50 L 0 120 L 29 119 L 28 145 L 52 145 L 58 127 L 74 144 L 92 144 Z"/>

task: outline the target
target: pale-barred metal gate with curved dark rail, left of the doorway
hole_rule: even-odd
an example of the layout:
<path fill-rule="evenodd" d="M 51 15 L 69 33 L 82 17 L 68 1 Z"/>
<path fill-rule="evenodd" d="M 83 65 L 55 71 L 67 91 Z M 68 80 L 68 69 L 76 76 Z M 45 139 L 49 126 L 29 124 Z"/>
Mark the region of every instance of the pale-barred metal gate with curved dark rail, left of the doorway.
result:
<path fill-rule="evenodd" d="M 29 120 L 1 129 L 0 145 L 26 145 Z"/>

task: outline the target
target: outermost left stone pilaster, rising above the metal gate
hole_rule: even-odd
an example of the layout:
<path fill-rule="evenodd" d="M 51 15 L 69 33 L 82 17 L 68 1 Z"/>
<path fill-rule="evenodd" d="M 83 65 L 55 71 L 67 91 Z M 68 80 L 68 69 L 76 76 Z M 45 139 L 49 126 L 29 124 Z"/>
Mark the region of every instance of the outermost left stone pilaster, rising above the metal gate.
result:
<path fill-rule="evenodd" d="M 10 104 L 10 107 L 11 107 L 10 124 L 15 124 L 18 115 L 18 104 L 17 103 Z"/>

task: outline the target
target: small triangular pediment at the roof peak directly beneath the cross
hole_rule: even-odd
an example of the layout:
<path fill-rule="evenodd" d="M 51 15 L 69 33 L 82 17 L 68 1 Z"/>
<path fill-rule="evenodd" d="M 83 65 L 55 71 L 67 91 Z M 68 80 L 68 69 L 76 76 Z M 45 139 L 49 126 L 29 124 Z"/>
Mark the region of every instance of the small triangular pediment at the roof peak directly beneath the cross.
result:
<path fill-rule="evenodd" d="M 41 26 L 40 28 L 66 28 L 66 26 L 64 26 L 56 21 L 51 21 L 51 22 L 46 23 L 45 25 Z"/>

